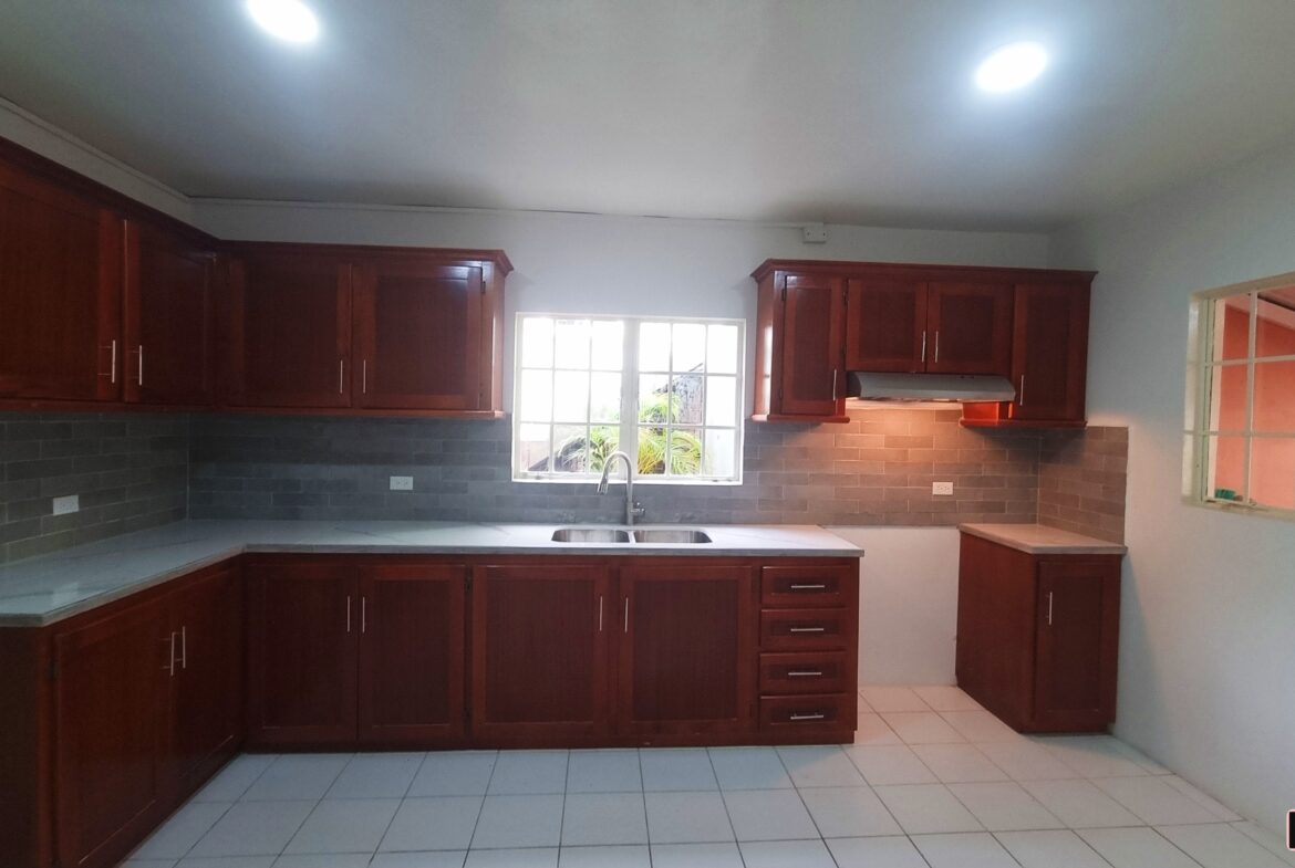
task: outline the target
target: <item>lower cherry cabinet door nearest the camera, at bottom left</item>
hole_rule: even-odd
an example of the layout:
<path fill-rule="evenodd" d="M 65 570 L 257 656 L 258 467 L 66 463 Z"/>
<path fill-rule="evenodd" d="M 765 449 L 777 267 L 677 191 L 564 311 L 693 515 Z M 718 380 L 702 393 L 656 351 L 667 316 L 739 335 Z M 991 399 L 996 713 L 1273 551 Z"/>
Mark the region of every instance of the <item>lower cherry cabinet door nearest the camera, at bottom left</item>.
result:
<path fill-rule="evenodd" d="M 115 864 L 157 818 L 175 648 L 161 600 L 54 638 L 58 864 Z"/>

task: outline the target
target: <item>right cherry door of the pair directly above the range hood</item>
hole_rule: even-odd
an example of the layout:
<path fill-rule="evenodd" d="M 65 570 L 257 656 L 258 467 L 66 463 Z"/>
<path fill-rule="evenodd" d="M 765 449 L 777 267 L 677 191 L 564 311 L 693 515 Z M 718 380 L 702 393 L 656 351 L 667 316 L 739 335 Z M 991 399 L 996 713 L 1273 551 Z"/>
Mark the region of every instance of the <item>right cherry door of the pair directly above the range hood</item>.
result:
<path fill-rule="evenodd" d="M 929 283 L 926 329 L 927 371 L 1011 373 L 1011 286 Z"/>

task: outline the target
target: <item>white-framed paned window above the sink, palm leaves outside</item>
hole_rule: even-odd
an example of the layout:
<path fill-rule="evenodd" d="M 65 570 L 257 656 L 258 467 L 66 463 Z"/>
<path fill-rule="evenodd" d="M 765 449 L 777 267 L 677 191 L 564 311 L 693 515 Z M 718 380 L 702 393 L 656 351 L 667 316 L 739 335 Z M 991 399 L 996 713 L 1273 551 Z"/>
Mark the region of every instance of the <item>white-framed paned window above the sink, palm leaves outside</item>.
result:
<path fill-rule="evenodd" d="M 741 320 L 517 316 L 513 479 L 742 481 Z M 619 475 L 619 471 L 614 471 Z"/>

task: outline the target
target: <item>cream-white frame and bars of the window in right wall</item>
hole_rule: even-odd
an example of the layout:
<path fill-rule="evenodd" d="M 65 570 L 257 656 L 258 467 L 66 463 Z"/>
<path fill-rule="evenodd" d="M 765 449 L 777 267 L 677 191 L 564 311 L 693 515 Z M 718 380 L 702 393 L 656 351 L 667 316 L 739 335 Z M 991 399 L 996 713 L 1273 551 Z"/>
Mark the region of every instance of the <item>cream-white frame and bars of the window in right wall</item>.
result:
<path fill-rule="evenodd" d="M 1295 272 L 1278 274 L 1259 281 L 1234 283 L 1215 290 L 1195 292 L 1191 296 L 1191 313 L 1188 326 L 1188 393 L 1184 431 L 1182 459 L 1182 499 L 1191 506 L 1200 506 L 1228 512 L 1263 515 L 1267 517 L 1295 521 L 1295 510 L 1256 502 L 1250 497 L 1251 455 L 1255 440 L 1295 439 L 1295 432 L 1255 431 L 1255 363 L 1295 362 L 1290 356 L 1257 356 L 1256 334 L 1259 317 L 1256 305 L 1260 292 L 1287 288 L 1295 285 Z M 1230 296 L 1250 298 L 1250 335 L 1246 354 L 1239 358 L 1215 360 L 1215 343 L 1222 340 L 1222 323 L 1217 322 L 1217 301 Z M 1222 429 L 1215 424 L 1213 389 L 1215 374 L 1226 367 L 1246 367 L 1246 424 L 1241 429 Z M 1229 501 L 1215 497 L 1211 489 L 1211 468 L 1215 464 L 1219 437 L 1239 437 L 1244 440 L 1246 451 L 1243 473 L 1246 497 L 1243 501 Z"/>

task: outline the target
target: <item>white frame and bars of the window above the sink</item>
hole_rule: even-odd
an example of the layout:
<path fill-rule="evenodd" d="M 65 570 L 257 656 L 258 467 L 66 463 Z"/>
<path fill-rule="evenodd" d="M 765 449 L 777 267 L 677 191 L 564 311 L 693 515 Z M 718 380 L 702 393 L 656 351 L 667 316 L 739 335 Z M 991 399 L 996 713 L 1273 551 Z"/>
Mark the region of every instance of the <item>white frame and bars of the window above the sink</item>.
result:
<path fill-rule="evenodd" d="M 591 320 L 602 322 L 622 322 L 624 323 L 624 345 L 620 365 L 620 444 L 632 444 L 632 449 L 627 449 L 622 445 L 622 450 L 629 454 L 632 458 L 637 455 L 638 451 L 638 332 L 640 326 L 645 322 L 666 322 L 677 325 L 725 325 L 737 327 L 737 360 L 734 366 L 734 374 L 721 374 L 723 376 L 734 378 L 734 415 L 733 415 L 733 475 L 732 476 L 671 476 L 668 472 L 664 475 L 640 475 L 637 470 L 635 471 L 635 485 L 741 485 L 742 484 L 742 458 L 743 458 L 743 422 L 745 422 L 745 369 L 746 369 L 746 320 L 728 320 L 720 317 L 646 317 L 646 316 L 613 316 L 613 314 L 594 314 L 594 313 L 544 313 L 539 310 L 526 310 L 518 312 L 514 318 L 514 339 L 513 339 L 513 445 L 512 445 L 512 476 L 514 483 L 587 483 L 597 481 L 602 473 L 572 473 L 572 472 L 554 472 L 554 471 L 527 471 L 521 467 L 519 463 L 519 450 L 518 444 L 521 442 L 521 427 L 523 424 L 521 413 L 518 413 L 518 389 L 522 387 L 522 340 L 523 329 L 522 321 L 528 317 L 549 317 L 553 320 Z M 671 361 L 673 366 L 673 360 Z M 658 374 L 660 371 L 650 371 L 651 374 Z M 706 429 L 728 429 L 721 426 L 708 426 L 706 424 L 706 376 L 702 376 L 702 422 L 699 424 L 681 424 L 679 427 L 686 428 L 699 428 L 702 431 L 702 442 L 704 449 L 706 442 Z M 673 369 L 668 371 L 668 376 L 673 379 Z M 528 423 L 528 424 L 545 424 L 545 423 Z M 561 422 L 550 420 L 550 432 L 554 424 L 562 424 Z M 591 426 L 596 423 L 588 423 Z M 675 427 L 675 426 L 667 426 Z M 550 442 L 549 449 L 554 444 Z M 618 464 L 613 468 L 613 479 L 624 479 L 624 471 Z"/>

